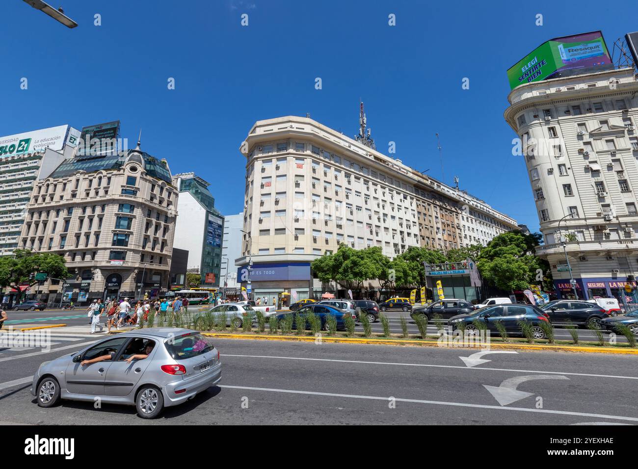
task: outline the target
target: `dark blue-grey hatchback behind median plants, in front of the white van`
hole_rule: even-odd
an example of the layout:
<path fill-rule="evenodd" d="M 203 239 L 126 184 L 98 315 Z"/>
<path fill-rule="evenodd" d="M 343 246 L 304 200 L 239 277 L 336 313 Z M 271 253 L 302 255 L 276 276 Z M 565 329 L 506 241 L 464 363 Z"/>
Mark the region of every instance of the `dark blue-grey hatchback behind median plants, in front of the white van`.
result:
<path fill-rule="evenodd" d="M 526 320 L 531 323 L 535 339 L 545 338 L 545 332 L 540 327 L 540 322 L 549 322 L 547 314 L 537 306 L 532 306 L 531 304 L 502 304 L 486 306 L 486 308 L 477 309 L 470 314 L 453 316 L 450 318 L 449 324 L 452 325 L 452 329 L 456 330 L 459 328 L 459 324 L 464 322 L 465 330 L 470 332 L 470 334 L 476 334 L 479 330 L 473 324 L 475 320 L 484 321 L 487 330 L 492 334 L 498 332 L 496 323 L 500 322 L 505 326 L 505 331 L 511 335 L 522 334 L 519 321 Z"/>

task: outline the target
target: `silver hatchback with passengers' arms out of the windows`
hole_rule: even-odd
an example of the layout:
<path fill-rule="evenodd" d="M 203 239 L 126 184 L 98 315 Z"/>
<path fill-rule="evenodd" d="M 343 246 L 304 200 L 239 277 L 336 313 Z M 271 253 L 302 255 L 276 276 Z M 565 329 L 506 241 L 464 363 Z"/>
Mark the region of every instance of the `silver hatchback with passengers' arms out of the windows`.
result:
<path fill-rule="evenodd" d="M 38 405 L 60 399 L 135 405 L 144 419 L 221 380 L 219 351 L 198 331 L 154 327 L 124 332 L 54 361 L 33 376 Z"/>

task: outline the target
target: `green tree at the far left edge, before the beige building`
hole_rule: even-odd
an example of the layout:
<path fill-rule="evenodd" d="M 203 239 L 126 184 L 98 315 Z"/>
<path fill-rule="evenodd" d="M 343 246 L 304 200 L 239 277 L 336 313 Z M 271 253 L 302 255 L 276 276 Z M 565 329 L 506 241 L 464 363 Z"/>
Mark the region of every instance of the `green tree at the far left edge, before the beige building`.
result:
<path fill-rule="evenodd" d="M 29 283 L 29 287 L 33 287 L 38 283 L 31 278 L 38 272 L 44 272 L 51 278 L 66 279 L 69 276 L 61 255 L 16 249 L 13 256 L 0 257 L 0 288 L 10 287 L 20 294 L 20 284 Z"/>

